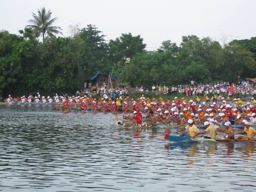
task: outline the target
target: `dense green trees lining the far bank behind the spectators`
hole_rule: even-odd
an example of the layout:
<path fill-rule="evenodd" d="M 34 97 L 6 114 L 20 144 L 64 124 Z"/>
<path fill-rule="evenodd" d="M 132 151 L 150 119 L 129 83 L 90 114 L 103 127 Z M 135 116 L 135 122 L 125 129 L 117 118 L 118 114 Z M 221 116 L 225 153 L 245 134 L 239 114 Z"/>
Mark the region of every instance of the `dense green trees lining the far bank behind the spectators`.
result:
<path fill-rule="evenodd" d="M 71 93 L 97 71 L 131 86 L 196 82 L 237 82 L 256 76 L 255 37 L 221 47 L 209 37 L 183 36 L 180 46 L 166 40 L 147 52 L 140 35 L 121 34 L 106 42 L 94 25 L 71 37 L 47 36 L 44 43 L 30 28 L 20 35 L 0 31 L 0 96 Z M 130 58 L 126 62 L 126 58 Z"/>

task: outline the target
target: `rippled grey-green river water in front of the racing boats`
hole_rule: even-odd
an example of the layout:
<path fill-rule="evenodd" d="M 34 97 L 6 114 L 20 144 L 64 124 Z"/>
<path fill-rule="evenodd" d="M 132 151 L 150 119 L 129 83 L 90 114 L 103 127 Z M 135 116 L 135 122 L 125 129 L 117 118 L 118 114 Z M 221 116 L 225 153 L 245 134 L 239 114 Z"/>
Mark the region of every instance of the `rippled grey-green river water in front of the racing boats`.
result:
<path fill-rule="evenodd" d="M 0 191 L 256 191 L 256 144 L 170 143 L 115 119 L 0 106 Z"/>

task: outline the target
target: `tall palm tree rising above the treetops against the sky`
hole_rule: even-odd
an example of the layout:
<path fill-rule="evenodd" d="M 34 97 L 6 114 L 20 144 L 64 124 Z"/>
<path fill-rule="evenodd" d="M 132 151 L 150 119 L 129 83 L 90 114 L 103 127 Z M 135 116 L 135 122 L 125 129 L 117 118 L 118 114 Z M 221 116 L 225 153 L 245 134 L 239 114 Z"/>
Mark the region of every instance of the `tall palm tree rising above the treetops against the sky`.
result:
<path fill-rule="evenodd" d="M 53 34 L 62 34 L 61 31 L 62 28 L 56 27 L 56 26 L 51 26 L 54 21 L 56 21 L 58 18 L 54 17 L 51 19 L 52 12 L 49 10 L 46 12 L 45 8 L 43 7 L 40 10 L 37 10 L 38 15 L 35 13 L 32 13 L 32 17 L 34 19 L 28 20 L 32 25 L 27 25 L 26 27 L 31 27 L 33 29 L 33 32 L 36 34 L 37 37 L 40 35 L 43 36 L 43 43 L 45 39 L 45 35 L 50 35 L 52 36 Z"/>

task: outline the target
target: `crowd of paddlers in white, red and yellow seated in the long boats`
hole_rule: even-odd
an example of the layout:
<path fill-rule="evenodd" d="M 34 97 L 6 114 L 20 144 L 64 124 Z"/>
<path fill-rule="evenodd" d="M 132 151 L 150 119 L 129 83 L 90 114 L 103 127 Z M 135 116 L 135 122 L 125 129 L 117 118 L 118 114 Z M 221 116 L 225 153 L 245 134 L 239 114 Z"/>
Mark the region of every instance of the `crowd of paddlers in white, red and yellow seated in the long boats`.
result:
<path fill-rule="evenodd" d="M 123 98 L 122 95 L 112 100 L 105 92 L 100 101 L 92 95 L 89 97 L 86 95 L 84 97 L 68 97 L 67 95 L 59 97 L 56 94 L 54 100 L 49 96 L 47 98 L 44 96 L 41 99 L 39 98 L 40 94 L 37 93 L 37 96 L 33 99 L 37 103 L 54 102 L 58 105 L 57 108 L 54 106 L 54 109 L 61 111 L 71 111 L 72 109 L 102 112 L 122 111 L 128 113 L 128 115 L 124 115 L 123 118 L 131 120 L 131 123 L 134 124 L 156 124 L 157 121 L 158 124 L 161 124 L 161 122 L 163 124 L 170 124 L 172 122 L 180 125 L 188 124 L 186 128 L 190 130 L 191 137 L 196 137 L 198 134 L 202 133 L 195 126 L 199 124 L 207 127 L 205 130 L 207 132 L 211 131 L 212 133 L 216 132 L 216 130 L 226 131 L 227 137 L 230 139 L 234 138 L 234 129 L 231 127 L 231 125 L 234 124 L 245 125 L 244 131 L 241 131 L 240 134 L 246 134 L 246 137 L 250 138 L 256 135 L 255 129 L 252 128 L 252 126 L 256 124 L 256 100 L 253 97 L 249 98 L 247 101 L 235 98 L 232 100 L 232 103 L 223 100 L 219 103 L 202 102 L 201 104 L 200 102 L 196 104 L 193 100 L 187 101 L 185 98 L 179 100 L 177 97 L 175 97 L 174 100 L 167 98 L 166 101 L 162 98 L 158 100 L 153 98 L 151 101 L 149 98 L 145 98 L 143 94 L 137 101 L 133 98 L 129 99 L 129 97 Z M 31 102 L 30 100 L 32 100 L 30 96 L 28 98 L 24 96 L 20 99 L 21 102 Z M 13 99 L 11 95 L 9 95 L 7 102 L 11 101 L 13 101 Z M 62 104 L 59 104 L 60 102 Z M 130 112 L 132 115 L 129 114 Z M 150 122 L 148 122 L 149 120 Z M 222 125 L 225 127 L 220 128 Z M 208 136 L 214 138 L 216 134 L 213 133 Z"/>

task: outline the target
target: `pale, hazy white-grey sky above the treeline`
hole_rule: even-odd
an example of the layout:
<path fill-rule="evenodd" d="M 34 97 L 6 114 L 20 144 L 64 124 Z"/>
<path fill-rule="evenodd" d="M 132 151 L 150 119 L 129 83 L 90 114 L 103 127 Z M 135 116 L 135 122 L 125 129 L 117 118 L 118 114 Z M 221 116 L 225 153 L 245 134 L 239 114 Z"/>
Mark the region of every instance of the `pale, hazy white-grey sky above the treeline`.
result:
<path fill-rule="evenodd" d="M 0 6 L 0 30 L 18 34 L 32 12 L 45 7 L 54 23 L 69 36 L 68 26 L 81 28 L 93 24 L 103 31 L 106 40 L 122 33 L 141 35 L 146 49 L 152 51 L 164 40 L 180 45 L 182 36 L 209 36 L 222 44 L 232 39 L 256 36 L 255 0 L 3 0 Z"/>

